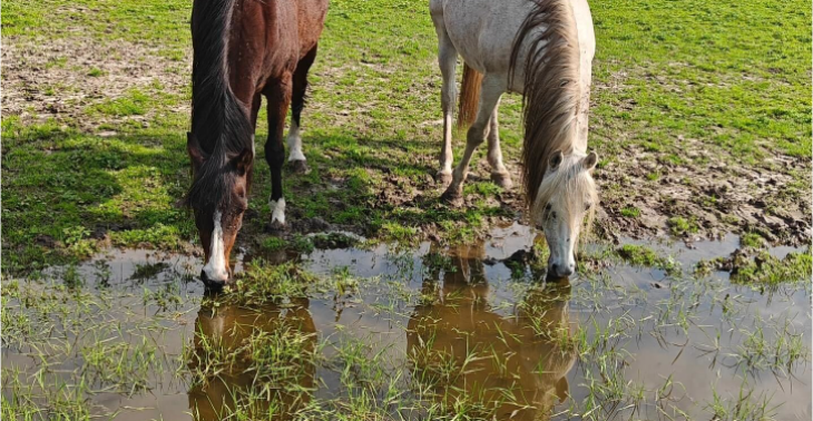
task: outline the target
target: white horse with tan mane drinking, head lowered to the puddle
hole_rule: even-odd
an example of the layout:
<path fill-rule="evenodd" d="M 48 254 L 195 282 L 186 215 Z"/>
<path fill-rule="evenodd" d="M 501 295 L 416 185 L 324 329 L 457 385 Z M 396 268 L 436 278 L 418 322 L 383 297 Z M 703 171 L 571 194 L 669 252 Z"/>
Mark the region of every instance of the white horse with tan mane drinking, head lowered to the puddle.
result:
<path fill-rule="evenodd" d="M 497 107 L 506 91 L 523 95 L 523 184 L 530 217 L 545 231 L 548 273 L 574 273 L 574 249 L 598 200 L 587 154 L 587 110 L 596 41 L 587 0 L 430 0 L 443 75 L 442 199 L 460 202 L 474 148 L 488 136 L 492 179 L 511 178 L 502 164 Z M 458 53 L 466 62 L 461 117 L 479 107 L 466 151 L 452 172 L 452 112 Z M 480 81 L 481 79 L 481 81 Z M 479 86 L 478 86 L 479 81 Z"/>

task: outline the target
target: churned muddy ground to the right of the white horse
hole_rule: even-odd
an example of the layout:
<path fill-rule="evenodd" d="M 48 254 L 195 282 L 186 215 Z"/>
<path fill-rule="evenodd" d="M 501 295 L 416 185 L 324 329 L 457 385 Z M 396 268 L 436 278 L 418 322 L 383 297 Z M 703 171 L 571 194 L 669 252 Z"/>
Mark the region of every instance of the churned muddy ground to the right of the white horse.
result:
<path fill-rule="evenodd" d="M 640 70 L 617 72 L 607 81 L 596 82 L 591 107 L 600 106 L 595 98 L 603 92 L 629 97 L 625 95 L 629 88 L 625 81 L 634 72 Z M 668 85 L 664 78 L 647 72 L 636 77 Z M 667 89 L 679 92 L 672 85 Z M 624 112 L 638 104 L 626 99 L 613 106 Z M 597 131 L 623 134 L 618 138 L 599 139 L 610 150 L 596 172 L 603 205 L 598 231 L 604 237 L 618 243 L 623 236 L 673 235 L 692 243 L 719 238 L 725 233 L 757 233 L 774 245 L 810 244 L 813 233 L 810 158 L 782 155 L 760 145 L 764 149 L 751 157 L 757 159 L 752 165 L 711 139 L 676 131 L 668 143 L 660 145 L 633 140 L 649 136 L 646 124 L 634 129 L 641 133 L 626 133 L 627 128 L 610 127 L 617 123 L 595 117 L 590 124 L 599 128 Z M 712 135 L 733 136 L 729 131 L 734 129 L 711 127 L 708 130 Z"/>

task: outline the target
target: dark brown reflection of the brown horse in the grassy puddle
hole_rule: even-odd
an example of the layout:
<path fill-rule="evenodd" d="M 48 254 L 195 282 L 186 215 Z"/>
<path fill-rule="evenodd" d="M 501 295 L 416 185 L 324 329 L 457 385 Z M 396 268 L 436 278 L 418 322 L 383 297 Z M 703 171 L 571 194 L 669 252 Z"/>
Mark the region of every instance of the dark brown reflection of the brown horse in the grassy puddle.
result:
<path fill-rule="evenodd" d="M 210 364 L 205 371 L 212 375 L 196 379 L 189 390 L 195 420 L 285 420 L 307 403 L 315 373 L 308 355 L 316 342 L 307 306 L 303 298 L 284 309 L 200 307 L 189 368 L 204 371 Z"/>

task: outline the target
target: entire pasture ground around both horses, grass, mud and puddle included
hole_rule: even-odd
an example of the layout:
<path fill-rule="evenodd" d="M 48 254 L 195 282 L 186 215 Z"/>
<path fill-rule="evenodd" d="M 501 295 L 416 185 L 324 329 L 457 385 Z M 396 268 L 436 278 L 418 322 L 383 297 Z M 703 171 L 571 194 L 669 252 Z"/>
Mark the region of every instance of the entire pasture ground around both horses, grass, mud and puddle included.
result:
<path fill-rule="evenodd" d="M 257 161 L 212 295 L 175 206 L 192 2 L 3 1 L 3 419 L 810 419 L 811 3 L 590 2 L 601 204 L 559 283 L 484 147 L 439 202 L 427 3 L 331 2 L 312 170 L 272 231 Z"/>

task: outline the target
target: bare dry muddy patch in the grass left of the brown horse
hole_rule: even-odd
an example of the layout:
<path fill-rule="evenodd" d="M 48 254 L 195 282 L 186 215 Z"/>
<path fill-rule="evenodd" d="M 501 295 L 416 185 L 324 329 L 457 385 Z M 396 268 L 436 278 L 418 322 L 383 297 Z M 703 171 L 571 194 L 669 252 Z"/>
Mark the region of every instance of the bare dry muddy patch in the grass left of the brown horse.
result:
<path fill-rule="evenodd" d="M 3 117 L 17 116 L 23 124 L 52 118 L 87 131 L 123 121 L 147 127 L 157 111 L 151 104 L 155 98 L 148 99 L 149 105 L 124 110 L 96 107 L 134 92 L 184 95 L 192 74 L 190 51 L 173 61 L 161 57 L 158 48 L 124 40 L 4 37 L 2 47 Z M 188 106 L 183 104 L 177 111 L 188 112 Z M 88 112 L 97 115 L 88 117 Z M 99 135 L 115 134 L 102 130 Z"/>

